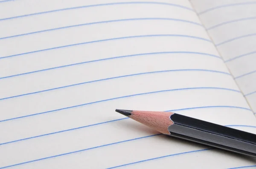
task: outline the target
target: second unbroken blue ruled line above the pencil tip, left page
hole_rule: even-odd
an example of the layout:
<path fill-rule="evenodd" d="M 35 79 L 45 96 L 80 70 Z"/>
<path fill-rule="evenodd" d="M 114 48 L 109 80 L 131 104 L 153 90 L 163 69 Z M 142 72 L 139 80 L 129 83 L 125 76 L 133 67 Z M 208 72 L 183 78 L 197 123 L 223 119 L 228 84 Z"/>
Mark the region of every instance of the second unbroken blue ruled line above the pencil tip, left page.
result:
<path fill-rule="evenodd" d="M 154 72 L 144 72 L 144 73 L 124 75 L 124 76 L 116 76 L 116 77 L 110 77 L 110 78 L 106 78 L 106 79 L 99 79 L 99 80 L 93 80 L 93 81 L 89 81 L 89 82 L 77 83 L 77 84 L 73 84 L 73 85 L 55 87 L 55 88 L 52 88 L 52 89 L 41 90 L 41 91 L 36 91 L 36 92 L 32 92 L 32 93 L 25 93 L 25 94 L 21 94 L 21 95 L 17 95 L 17 96 L 10 96 L 10 97 L 6 97 L 6 98 L 1 98 L 0 101 L 1 100 L 6 100 L 6 99 L 11 99 L 11 98 L 16 98 L 16 97 L 21 97 L 21 96 L 32 95 L 32 94 L 36 94 L 36 93 L 47 92 L 47 91 L 51 91 L 51 90 L 58 90 L 58 89 L 66 88 L 66 87 L 72 87 L 72 86 L 77 86 L 77 85 L 84 85 L 84 84 L 87 84 L 87 83 L 105 81 L 105 80 L 110 80 L 110 79 L 118 79 L 118 78 L 123 78 L 123 77 L 138 76 L 138 75 L 153 74 L 153 73 L 176 72 L 176 71 L 204 71 L 204 72 L 212 72 L 212 73 L 222 73 L 222 74 L 226 74 L 226 75 L 231 76 L 230 73 L 221 72 L 221 71 L 217 71 L 217 70 L 204 70 L 204 69 L 160 70 L 160 71 L 154 71 Z"/>

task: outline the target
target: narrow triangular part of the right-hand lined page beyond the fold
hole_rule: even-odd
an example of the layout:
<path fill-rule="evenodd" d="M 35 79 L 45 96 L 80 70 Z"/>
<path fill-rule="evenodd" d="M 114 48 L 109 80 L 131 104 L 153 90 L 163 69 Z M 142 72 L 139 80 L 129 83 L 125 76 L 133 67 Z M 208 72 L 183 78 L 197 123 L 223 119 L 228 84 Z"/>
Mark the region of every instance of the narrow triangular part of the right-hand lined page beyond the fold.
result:
<path fill-rule="evenodd" d="M 192 0 L 192 4 L 256 113 L 256 1 Z"/>

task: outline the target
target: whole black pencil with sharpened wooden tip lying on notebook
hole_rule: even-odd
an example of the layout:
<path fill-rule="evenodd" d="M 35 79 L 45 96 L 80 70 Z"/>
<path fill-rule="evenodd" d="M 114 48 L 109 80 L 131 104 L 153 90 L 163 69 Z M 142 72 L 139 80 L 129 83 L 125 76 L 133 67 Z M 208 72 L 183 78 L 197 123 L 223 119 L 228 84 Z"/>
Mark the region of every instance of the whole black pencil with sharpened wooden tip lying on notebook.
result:
<path fill-rule="evenodd" d="M 256 135 L 172 112 L 119 110 L 116 112 L 165 135 L 256 157 Z"/>

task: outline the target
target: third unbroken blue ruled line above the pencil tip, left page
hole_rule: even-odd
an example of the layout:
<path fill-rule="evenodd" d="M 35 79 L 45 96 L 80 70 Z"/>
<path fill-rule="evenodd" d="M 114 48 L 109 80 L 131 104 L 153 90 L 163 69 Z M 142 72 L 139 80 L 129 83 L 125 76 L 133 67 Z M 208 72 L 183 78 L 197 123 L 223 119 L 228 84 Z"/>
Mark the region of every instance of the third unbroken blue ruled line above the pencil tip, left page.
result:
<path fill-rule="evenodd" d="M 10 78 L 10 77 L 15 77 L 15 76 L 21 76 L 21 75 L 26 75 L 26 74 L 31 74 L 31 73 L 37 73 L 37 72 L 42 72 L 42 71 L 46 71 L 46 70 L 65 68 L 65 67 L 69 67 L 69 66 L 81 65 L 81 64 L 91 63 L 91 62 L 99 62 L 99 61 L 105 61 L 105 60 L 110 60 L 110 59 L 118 59 L 118 58 L 133 57 L 133 56 L 154 55 L 154 54 L 199 54 L 199 55 L 212 56 L 212 57 L 216 57 L 218 59 L 221 59 L 220 56 L 216 56 L 216 55 L 213 55 L 213 54 L 200 53 L 200 52 L 189 52 L 189 51 L 153 52 L 153 53 L 132 54 L 132 55 L 116 56 L 116 57 L 110 57 L 110 58 L 104 58 L 104 59 L 91 60 L 91 61 L 86 61 L 86 62 L 79 62 L 79 63 L 70 64 L 70 65 L 63 65 L 63 66 L 58 66 L 58 67 L 53 67 L 53 68 L 35 70 L 35 71 L 32 71 L 32 72 L 15 74 L 15 75 L 11 75 L 11 76 L 0 77 L 0 79 L 6 79 L 6 78 Z"/>

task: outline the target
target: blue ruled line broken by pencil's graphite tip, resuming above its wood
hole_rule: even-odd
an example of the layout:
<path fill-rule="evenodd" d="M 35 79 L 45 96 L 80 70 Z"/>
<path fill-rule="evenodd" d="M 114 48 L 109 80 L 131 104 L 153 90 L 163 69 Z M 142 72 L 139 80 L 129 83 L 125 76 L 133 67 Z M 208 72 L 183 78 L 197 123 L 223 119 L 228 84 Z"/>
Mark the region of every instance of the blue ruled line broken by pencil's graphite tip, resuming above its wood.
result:
<path fill-rule="evenodd" d="M 219 108 L 219 107 L 221 107 L 221 108 L 243 109 L 243 110 L 249 110 L 249 111 L 251 112 L 251 110 L 248 109 L 248 108 L 245 108 L 245 107 L 236 107 L 236 106 L 189 107 L 189 108 L 183 108 L 183 109 L 167 110 L 167 111 L 165 111 L 165 112 L 176 112 L 176 111 L 181 111 L 181 110 L 192 110 L 192 109 L 202 109 L 202 108 L 203 108 L 203 109 L 204 109 L 204 108 Z M 127 118 L 128 118 L 128 117 L 127 117 Z M 22 139 L 18 139 L 18 140 L 14 140 L 14 141 L 9 141 L 9 142 L 5 142 L 5 143 L 0 143 L 0 145 L 3 145 L 3 144 L 10 144 L 10 143 L 18 142 L 18 141 L 25 141 L 25 140 L 29 140 L 29 139 L 32 139 L 32 138 L 38 138 L 38 137 L 42 137 L 42 136 L 46 136 L 46 135 L 53 135 L 53 134 L 57 134 L 57 133 L 61 133 L 61 132 L 67 132 L 67 131 L 72 131 L 72 130 L 78 130 L 78 129 L 82 129 L 82 128 L 86 128 L 86 127 L 91 127 L 91 126 L 96 126 L 96 125 L 100 125 L 100 124 L 110 123 L 110 122 L 113 122 L 113 121 L 124 120 L 124 119 L 127 119 L 127 118 L 119 118 L 119 119 L 116 119 L 116 120 L 104 121 L 104 122 L 101 122 L 101 123 L 90 124 L 90 125 L 87 125 L 87 126 L 76 127 L 76 128 L 67 129 L 67 130 L 61 130 L 61 131 L 57 131 L 57 132 L 51 132 L 51 133 L 47 133 L 47 134 L 43 134 L 43 135 L 36 135 L 36 136 L 29 137 L 29 138 L 22 138 Z"/>

